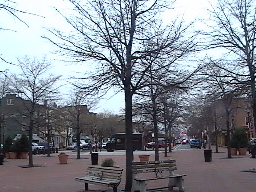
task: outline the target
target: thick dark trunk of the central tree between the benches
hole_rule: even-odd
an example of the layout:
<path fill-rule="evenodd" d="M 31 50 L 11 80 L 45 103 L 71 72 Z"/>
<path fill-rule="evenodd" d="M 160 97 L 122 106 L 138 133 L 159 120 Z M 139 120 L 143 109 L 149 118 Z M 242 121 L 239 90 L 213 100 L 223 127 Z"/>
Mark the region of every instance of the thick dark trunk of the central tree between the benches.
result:
<path fill-rule="evenodd" d="M 126 154 L 126 181 L 125 191 L 132 190 L 132 160 L 133 160 L 133 145 L 132 145 L 132 94 L 130 91 L 130 84 L 125 88 L 125 154 Z"/>

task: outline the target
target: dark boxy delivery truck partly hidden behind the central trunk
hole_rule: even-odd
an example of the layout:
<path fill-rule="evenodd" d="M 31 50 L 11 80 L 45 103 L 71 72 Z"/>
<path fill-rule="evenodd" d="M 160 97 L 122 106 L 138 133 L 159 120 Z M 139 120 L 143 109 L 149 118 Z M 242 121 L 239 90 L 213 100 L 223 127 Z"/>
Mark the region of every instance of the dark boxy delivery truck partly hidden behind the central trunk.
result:
<path fill-rule="evenodd" d="M 106 149 L 108 152 L 113 152 L 114 150 L 125 149 L 125 133 L 116 133 L 111 136 L 110 142 L 106 144 Z M 142 134 L 134 133 L 132 134 L 132 144 L 133 150 L 142 149 Z"/>

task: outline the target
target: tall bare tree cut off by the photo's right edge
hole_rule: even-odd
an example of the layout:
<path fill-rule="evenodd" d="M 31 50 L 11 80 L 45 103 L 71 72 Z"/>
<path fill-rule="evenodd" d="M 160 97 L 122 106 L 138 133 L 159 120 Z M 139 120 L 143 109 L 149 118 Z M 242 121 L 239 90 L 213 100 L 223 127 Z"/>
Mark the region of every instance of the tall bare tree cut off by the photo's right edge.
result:
<path fill-rule="evenodd" d="M 255 0 L 218 0 L 216 7 L 212 6 L 212 10 L 210 10 L 211 17 L 208 20 L 210 23 L 208 27 L 211 30 L 206 35 L 210 38 L 210 42 L 208 42 L 210 48 L 227 49 L 232 60 L 235 60 L 233 65 L 241 69 L 239 73 L 229 72 L 249 79 L 254 128 L 256 129 L 255 8 Z"/>

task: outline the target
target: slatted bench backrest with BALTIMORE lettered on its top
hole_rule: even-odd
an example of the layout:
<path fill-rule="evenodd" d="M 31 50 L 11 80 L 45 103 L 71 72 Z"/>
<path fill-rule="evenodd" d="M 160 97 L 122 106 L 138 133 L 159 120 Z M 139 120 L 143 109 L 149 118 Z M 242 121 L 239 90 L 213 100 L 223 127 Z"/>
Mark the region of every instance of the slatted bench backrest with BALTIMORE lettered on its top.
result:
<path fill-rule="evenodd" d="M 176 160 L 132 162 L 132 173 L 149 173 L 176 170 Z"/>

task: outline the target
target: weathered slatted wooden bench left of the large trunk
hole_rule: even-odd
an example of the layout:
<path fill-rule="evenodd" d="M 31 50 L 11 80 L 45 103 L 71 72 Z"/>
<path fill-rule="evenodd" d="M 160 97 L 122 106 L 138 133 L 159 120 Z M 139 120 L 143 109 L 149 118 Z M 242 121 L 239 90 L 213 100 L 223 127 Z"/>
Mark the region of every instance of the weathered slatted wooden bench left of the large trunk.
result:
<path fill-rule="evenodd" d="M 117 187 L 121 182 L 123 169 L 109 168 L 102 166 L 88 166 L 86 176 L 77 177 L 76 181 L 84 182 L 85 190 L 88 191 L 88 184 L 109 186 L 113 192 L 117 192 Z"/>

